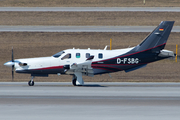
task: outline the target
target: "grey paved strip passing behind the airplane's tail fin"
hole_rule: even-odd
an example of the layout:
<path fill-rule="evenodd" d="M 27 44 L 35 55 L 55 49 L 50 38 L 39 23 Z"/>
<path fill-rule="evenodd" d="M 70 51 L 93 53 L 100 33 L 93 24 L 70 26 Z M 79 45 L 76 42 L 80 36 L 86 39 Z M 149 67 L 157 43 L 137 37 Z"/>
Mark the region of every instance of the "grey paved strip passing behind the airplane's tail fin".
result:
<path fill-rule="evenodd" d="M 152 32 L 156 26 L 0 26 L 0 32 Z M 180 32 L 174 26 L 172 32 Z"/>

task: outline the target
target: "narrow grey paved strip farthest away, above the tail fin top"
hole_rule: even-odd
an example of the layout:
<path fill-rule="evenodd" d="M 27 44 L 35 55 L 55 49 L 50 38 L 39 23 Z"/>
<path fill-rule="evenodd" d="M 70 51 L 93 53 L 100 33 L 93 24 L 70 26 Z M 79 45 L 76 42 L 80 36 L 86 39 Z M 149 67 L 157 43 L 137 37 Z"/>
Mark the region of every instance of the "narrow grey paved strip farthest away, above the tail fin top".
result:
<path fill-rule="evenodd" d="M 0 11 L 38 11 L 38 12 L 180 12 L 180 7 L 0 7 Z"/>

